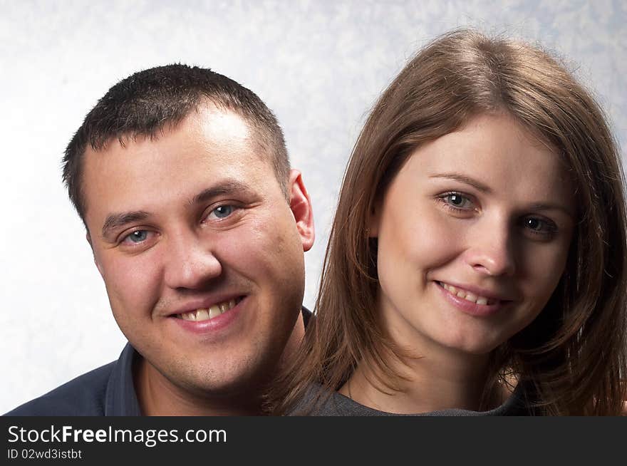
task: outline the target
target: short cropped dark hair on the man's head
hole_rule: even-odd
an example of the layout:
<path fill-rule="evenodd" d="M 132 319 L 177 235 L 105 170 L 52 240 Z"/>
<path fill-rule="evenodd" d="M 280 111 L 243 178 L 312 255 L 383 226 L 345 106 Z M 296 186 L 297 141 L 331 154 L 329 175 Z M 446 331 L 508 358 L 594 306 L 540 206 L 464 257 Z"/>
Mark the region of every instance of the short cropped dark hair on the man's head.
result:
<path fill-rule="evenodd" d="M 209 68 L 172 64 L 139 71 L 115 84 L 87 114 L 63 157 L 63 182 L 70 200 L 85 221 L 82 190 L 83 157 L 88 147 L 103 150 L 117 139 L 157 138 L 167 126 L 175 128 L 199 105 L 213 103 L 232 110 L 251 125 L 255 143 L 271 157 L 276 179 L 286 198 L 289 159 L 283 132 L 263 101 L 241 84 Z"/>

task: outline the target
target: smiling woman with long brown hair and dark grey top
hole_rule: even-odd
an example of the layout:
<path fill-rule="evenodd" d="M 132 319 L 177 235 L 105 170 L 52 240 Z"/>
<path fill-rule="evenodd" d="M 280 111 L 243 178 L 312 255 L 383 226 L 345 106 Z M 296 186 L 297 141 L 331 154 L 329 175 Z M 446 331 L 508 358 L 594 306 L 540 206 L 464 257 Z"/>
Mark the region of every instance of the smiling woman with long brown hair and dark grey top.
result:
<path fill-rule="evenodd" d="M 626 229 L 616 143 L 564 67 L 437 38 L 356 143 L 276 412 L 621 413 Z"/>

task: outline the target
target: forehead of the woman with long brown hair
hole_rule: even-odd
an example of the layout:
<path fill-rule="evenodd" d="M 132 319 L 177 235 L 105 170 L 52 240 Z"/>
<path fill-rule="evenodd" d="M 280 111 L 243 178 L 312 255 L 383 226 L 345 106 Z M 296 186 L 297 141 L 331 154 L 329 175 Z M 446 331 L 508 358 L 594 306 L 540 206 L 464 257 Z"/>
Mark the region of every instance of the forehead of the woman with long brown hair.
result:
<path fill-rule="evenodd" d="M 506 115 L 482 115 L 460 130 L 421 145 L 400 170 L 414 180 L 466 180 L 485 192 L 574 197 L 558 154 Z"/>

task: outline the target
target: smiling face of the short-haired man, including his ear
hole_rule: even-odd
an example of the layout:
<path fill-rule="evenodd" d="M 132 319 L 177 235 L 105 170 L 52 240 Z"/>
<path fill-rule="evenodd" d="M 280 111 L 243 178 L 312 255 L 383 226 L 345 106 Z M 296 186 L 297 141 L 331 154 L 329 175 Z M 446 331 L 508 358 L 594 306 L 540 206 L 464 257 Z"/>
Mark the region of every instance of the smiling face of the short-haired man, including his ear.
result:
<path fill-rule="evenodd" d="M 254 138 L 207 105 L 158 138 L 85 156 L 86 222 L 115 320 L 194 393 L 254 388 L 301 309 L 311 205 L 296 171 L 286 201 Z"/>

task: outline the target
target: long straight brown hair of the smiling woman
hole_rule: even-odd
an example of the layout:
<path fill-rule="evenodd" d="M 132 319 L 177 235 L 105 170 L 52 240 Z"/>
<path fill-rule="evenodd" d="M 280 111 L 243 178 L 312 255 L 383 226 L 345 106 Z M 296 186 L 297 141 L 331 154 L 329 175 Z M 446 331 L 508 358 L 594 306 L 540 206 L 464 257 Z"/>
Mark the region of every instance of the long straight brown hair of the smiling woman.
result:
<path fill-rule="evenodd" d="M 403 351 L 378 319 L 368 219 L 417 147 L 495 112 L 512 115 L 562 158 L 576 183 L 579 219 L 559 285 L 539 317 L 493 351 L 485 393 L 505 376 L 523 384 L 539 413 L 621 413 L 627 224 L 616 141 L 591 95 L 548 53 L 469 30 L 419 51 L 369 115 L 344 175 L 316 319 L 270 398 L 275 413 L 294 409 L 313 383 L 337 390 L 361 361 L 395 389 L 400 374 L 386 361 Z"/>

